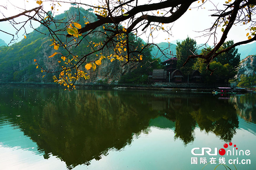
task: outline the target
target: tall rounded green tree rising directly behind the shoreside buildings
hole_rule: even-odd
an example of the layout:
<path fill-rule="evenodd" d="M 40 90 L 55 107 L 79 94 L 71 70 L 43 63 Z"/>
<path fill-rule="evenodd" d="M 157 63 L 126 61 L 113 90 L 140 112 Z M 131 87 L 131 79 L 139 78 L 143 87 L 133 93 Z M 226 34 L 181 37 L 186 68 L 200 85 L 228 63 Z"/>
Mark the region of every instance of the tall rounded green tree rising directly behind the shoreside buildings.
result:
<path fill-rule="evenodd" d="M 189 55 L 197 55 L 196 41 L 187 37 L 186 40 L 182 42 L 177 42 L 176 47 L 176 55 L 177 55 L 177 69 L 183 72 L 183 74 L 187 75 L 190 71 L 193 70 L 193 65 L 195 63 L 195 59 L 190 59 L 189 62 L 186 63 L 185 66 L 183 64 L 186 62 L 186 59 Z"/>

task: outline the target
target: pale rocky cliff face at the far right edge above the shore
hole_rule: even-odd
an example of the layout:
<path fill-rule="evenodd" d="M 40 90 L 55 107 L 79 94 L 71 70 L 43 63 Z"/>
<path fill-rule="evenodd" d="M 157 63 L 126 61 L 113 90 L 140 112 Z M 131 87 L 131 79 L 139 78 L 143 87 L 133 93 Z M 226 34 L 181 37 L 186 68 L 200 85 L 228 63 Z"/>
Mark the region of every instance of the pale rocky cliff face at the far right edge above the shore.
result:
<path fill-rule="evenodd" d="M 256 74 L 256 56 L 250 55 L 244 58 L 240 65 L 237 73 L 237 78 L 240 79 L 241 75 L 252 76 Z"/>

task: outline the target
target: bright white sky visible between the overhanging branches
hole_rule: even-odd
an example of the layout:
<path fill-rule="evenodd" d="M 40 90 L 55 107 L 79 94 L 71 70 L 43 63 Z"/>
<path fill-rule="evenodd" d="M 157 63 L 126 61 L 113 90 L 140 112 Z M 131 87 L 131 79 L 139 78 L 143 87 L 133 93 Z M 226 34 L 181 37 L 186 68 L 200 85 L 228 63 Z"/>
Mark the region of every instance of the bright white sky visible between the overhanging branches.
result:
<path fill-rule="evenodd" d="M 0 11 L 5 14 L 6 17 L 13 16 L 15 14 L 20 13 L 19 8 L 25 8 L 26 10 L 35 8 L 39 6 L 35 0 L 9 0 L 12 4 L 9 4 L 6 2 L 7 0 L 1 0 L 0 6 L 6 6 L 8 10 L 5 10 L 4 8 L 0 7 Z M 75 1 L 75 0 L 74 0 Z M 159 0 L 154 0 L 159 1 Z M 213 0 L 212 0 L 213 1 Z M 84 1 L 82 1 L 84 2 Z M 95 1 L 87 0 L 86 3 L 90 5 L 94 5 Z M 148 2 L 148 0 L 140 0 L 141 4 L 145 4 Z M 225 0 L 214 0 L 215 6 L 218 8 L 223 7 L 223 4 L 225 3 Z M 18 6 L 16 8 L 13 7 L 13 5 Z M 70 4 L 68 3 L 60 3 L 61 6 L 59 6 L 57 3 L 55 3 L 55 9 L 58 9 L 58 11 L 55 10 L 56 14 L 61 14 L 63 11 L 67 10 L 70 7 Z M 52 6 L 51 2 L 44 1 L 43 0 L 43 8 L 46 11 L 50 11 L 50 7 Z M 180 17 L 175 23 L 171 24 L 164 24 L 163 26 L 166 28 L 167 26 L 171 27 L 171 33 L 172 36 L 169 36 L 169 34 L 164 33 L 163 31 L 157 31 L 153 34 L 154 39 L 150 40 L 155 43 L 159 42 L 175 42 L 175 40 L 184 40 L 186 37 L 193 38 L 197 41 L 198 44 L 207 42 L 209 37 L 199 37 L 203 35 L 203 31 L 209 27 L 212 26 L 212 23 L 214 22 L 215 18 L 210 17 L 209 15 L 213 14 L 214 11 L 210 11 L 211 9 L 214 9 L 214 5 L 209 0 L 205 0 L 205 3 L 200 8 L 194 8 L 199 5 L 202 5 L 201 1 L 197 1 L 192 4 L 191 10 L 186 11 L 186 13 Z M 86 8 L 86 7 L 85 7 Z M 157 11 L 154 11 L 157 12 Z M 3 16 L 0 14 L 0 19 L 2 19 Z M 22 20 L 22 17 L 18 17 L 18 20 Z M 38 23 L 32 23 L 34 27 L 38 27 Z M 0 28 L 4 31 L 9 31 L 12 34 L 15 34 L 16 30 L 10 26 L 8 22 L 0 22 Z M 230 33 L 228 34 L 227 40 L 234 40 L 234 42 L 239 42 L 243 40 L 247 40 L 246 34 L 248 31 L 246 31 L 247 26 L 233 26 Z M 27 33 L 33 31 L 33 29 L 29 28 L 29 25 L 26 26 Z M 199 31 L 199 32 L 198 32 Z M 21 34 L 18 34 L 18 41 L 23 39 L 24 31 L 21 31 Z M 143 40 L 147 40 L 149 34 L 142 34 L 141 38 Z M 218 29 L 218 39 L 221 37 L 221 27 Z M 169 38 L 169 39 L 168 39 Z M 9 43 L 12 40 L 12 36 L 9 36 L 3 32 L 0 32 L 0 39 L 3 39 L 6 43 Z M 209 45 L 213 44 L 213 40 L 209 40 Z"/>

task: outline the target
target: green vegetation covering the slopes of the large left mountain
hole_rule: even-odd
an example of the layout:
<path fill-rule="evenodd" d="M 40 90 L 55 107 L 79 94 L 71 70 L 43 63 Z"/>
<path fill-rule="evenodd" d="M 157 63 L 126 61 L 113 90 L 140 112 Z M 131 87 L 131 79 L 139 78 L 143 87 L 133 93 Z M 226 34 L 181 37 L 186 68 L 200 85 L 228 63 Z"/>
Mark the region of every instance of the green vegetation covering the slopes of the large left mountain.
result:
<path fill-rule="evenodd" d="M 67 12 L 56 16 L 56 18 L 67 18 L 67 15 L 77 12 L 78 9 L 71 7 Z M 96 20 L 95 15 L 89 11 L 80 8 L 79 12 L 84 16 L 94 17 Z M 84 24 L 84 21 L 81 20 L 81 24 Z M 51 28 L 55 30 L 53 24 Z M 37 59 L 43 68 L 47 67 L 49 70 L 55 70 L 57 65 L 53 65 L 52 63 L 58 63 L 61 55 L 56 55 L 56 57 L 52 57 L 51 59 L 48 58 L 48 56 L 56 52 L 52 46 L 49 46 L 52 43 L 48 36 L 49 32 L 44 26 L 40 26 L 37 29 L 43 34 L 38 31 L 32 31 L 30 34 L 26 35 L 26 39 L 12 44 L 9 47 L 0 47 L 0 81 L 20 82 L 24 81 L 24 77 L 26 77 L 26 81 L 29 82 L 52 82 L 52 76 L 55 74 L 45 75 L 45 73 L 41 73 L 39 69 L 36 69 L 34 59 Z M 91 40 L 98 42 L 99 37 L 92 36 Z M 82 41 L 78 48 L 73 48 L 71 51 L 80 55 L 82 52 L 86 51 L 85 46 L 87 45 L 88 42 Z M 67 54 L 64 48 L 59 48 L 58 52 L 63 55 Z M 42 79 L 43 75 L 45 75 L 44 79 Z"/>

